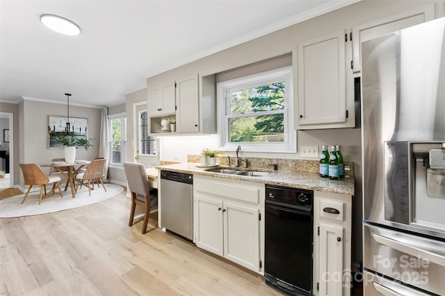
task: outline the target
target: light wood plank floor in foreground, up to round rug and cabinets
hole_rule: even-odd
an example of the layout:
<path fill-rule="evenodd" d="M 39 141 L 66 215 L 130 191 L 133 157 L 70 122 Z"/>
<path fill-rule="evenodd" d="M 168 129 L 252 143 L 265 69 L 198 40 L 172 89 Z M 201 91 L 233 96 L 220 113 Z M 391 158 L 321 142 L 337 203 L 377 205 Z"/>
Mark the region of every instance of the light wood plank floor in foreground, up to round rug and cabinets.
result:
<path fill-rule="evenodd" d="M 42 203 L 44 206 L 44 203 Z M 128 227 L 124 193 L 87 207 L 0 219 L 0 295 L 282 295 L 157 225 Z"/>

